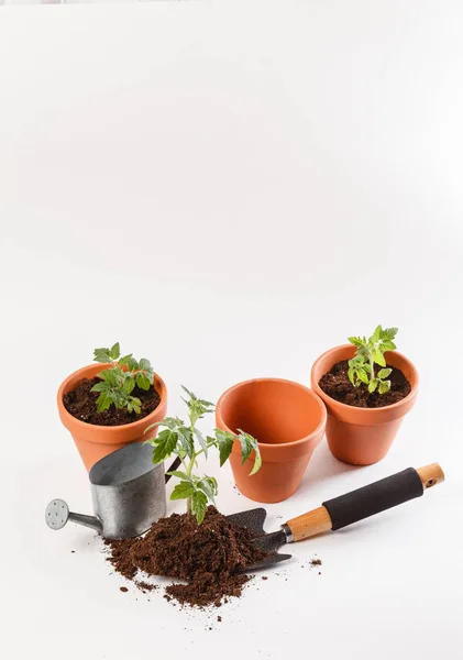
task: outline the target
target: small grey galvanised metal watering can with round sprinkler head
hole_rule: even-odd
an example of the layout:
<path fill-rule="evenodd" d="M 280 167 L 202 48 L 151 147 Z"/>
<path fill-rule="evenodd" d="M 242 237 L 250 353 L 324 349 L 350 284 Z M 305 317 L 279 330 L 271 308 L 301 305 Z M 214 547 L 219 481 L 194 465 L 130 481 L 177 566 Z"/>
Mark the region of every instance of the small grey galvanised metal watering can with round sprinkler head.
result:
<path fill-rule="evenodd" d="M 148 444 L 133 442 L 108 454 L 89 472 L 95 516 L 75 514 L 64 499 L 52 499 L 45 509 L 51 529 L 68 520 L 90 527 L 107 539 L 136 537 L 166 515 L 166 483 L 170 475 L 164 464 L 153 465 Z M 180 459 L 170 465 L 176 470 Z"/>

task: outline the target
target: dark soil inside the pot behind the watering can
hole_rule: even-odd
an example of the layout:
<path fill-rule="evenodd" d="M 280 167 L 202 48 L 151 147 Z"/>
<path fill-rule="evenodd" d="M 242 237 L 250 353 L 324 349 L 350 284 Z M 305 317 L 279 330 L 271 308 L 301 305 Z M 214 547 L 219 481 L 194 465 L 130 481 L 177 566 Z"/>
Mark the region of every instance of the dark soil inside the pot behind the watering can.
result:
<path fill-rule="evenodd" d="M 139 415 L 136 413 L 129 413 L 126 408 L 118 409 L 114 406 L 111 406 L 108 410 L 98 413 L 97 398 L 99 393 L 90 392 L 90 389 L 100 382 L 98 377 L 84 378 L 75 389 L 64 395 L 64 407 L 73 417 L 87 424 L 96 424 L 97 426 L 120 426 L 143 419 L 143 417 L 153 413 L 159 405 L 161 397 L 153 386 L 150 389 L 135 387 L 132 396 L 136 396 L 142 402 L 142 410 Z"/>

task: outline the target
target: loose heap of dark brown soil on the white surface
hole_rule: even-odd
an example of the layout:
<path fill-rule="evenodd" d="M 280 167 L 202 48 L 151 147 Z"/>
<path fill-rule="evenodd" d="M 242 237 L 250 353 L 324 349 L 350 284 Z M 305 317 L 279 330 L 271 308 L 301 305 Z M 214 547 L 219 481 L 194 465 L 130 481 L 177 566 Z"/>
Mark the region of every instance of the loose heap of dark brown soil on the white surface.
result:
<path fill-rule="evenodd" d="M 184 581 L 166 587 L 167 600 L 183 605 L 216 605 L 240 596 L 250 575 L 239 572 L 265 557 L 247 529 L 209 506 L 201 525 L 189 514 L 155 522 L 142 538 L 106 541 L 115 571 L 134 580 L 139 571 Z M 136 582 L 135 582 L 136 584 Z"/>

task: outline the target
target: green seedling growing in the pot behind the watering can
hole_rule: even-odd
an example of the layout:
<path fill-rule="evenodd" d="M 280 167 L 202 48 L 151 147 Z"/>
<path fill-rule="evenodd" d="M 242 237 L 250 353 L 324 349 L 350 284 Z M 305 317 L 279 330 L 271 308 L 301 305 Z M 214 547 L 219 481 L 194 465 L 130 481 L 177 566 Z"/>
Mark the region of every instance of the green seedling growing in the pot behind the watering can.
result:
<path fill-rule="evenodd" d="M 132 396 L 132 392 L 135 385 L 141 389 L 150 389 L 153 385 L 154 373 L 148 360 L 142 358 L 137 362 L 132 353 L 123 358 L 120 358 L 120 354 L 119 342 L 111 349 L 95 349 L 96 362 L 111 364 L 109 369 L 98 374 L 101 383 L 97 383 L 91 388 L 91 392 L 100 393 L 97 398 L 98 413 L 108 410 L 112 405 L 117 408 L 126 408 L 129 413 L 140 413 L 142 402 L 136 396 Z"/>

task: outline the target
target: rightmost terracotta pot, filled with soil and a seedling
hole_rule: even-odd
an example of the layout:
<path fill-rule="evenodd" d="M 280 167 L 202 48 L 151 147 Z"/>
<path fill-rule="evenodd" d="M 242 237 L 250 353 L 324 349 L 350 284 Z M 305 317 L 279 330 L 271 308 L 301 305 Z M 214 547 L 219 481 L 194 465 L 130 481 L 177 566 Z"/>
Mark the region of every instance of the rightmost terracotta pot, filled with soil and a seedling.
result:
<path fill-rule="evenodd" d="M 372 465 L 387 454 L 404 416 L 415 404 L 418 372 L 401 353 L 389 351 L 385 353 L 386 362 L 404 372 L 411 385 L 410 394 L 401 402 L 383 408 L 346 406 L 324 394 L 318 382 L 333 364 L 350 360 L 354 354 L 355 346 L 352 344 L 327 351 L 313 364 L 310 383 L 328 409 L 327 440 L 331 453 L 351 465 Z"/>

